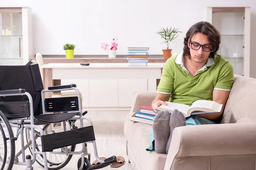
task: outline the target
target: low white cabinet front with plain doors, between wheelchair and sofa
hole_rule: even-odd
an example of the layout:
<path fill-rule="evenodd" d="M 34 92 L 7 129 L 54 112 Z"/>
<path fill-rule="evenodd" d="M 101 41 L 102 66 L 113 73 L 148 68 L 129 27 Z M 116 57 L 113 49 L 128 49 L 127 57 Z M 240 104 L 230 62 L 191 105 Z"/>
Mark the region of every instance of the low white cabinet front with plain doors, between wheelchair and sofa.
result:
<path fill-rule="evenodd" d="M 156 91 L 156 81 L 148 79 L 61 79 L 61 85 L 76 84 L 86 108 L 131 107 L 139 91 Z M 148 89 L 148 88 L 151 89 Z M 155 87 L 155 89 L 153 89 Z M 63 91 L 65 93 L 65 91 Z"/>

